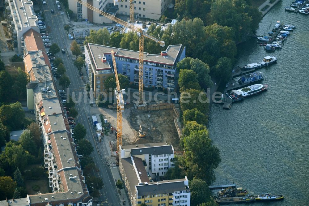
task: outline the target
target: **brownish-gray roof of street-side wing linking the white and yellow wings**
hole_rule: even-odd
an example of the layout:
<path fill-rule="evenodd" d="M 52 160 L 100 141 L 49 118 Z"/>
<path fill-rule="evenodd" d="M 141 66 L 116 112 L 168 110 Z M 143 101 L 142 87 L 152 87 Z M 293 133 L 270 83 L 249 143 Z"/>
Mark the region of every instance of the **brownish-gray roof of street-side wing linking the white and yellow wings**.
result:
<path fill-rule="evenodd" d="M 138 185 L 139 181 L 138 178 L 136 176 L 131 158 L 120 158 L 119 161 L 121 161 L 122 167 L 125 170 L 125 176 L 127 178 L 127 180 L 129 181 L 129 187 L 132 191 L 132 193 L 134 193 L 134 187 L 135 185 Z"/>

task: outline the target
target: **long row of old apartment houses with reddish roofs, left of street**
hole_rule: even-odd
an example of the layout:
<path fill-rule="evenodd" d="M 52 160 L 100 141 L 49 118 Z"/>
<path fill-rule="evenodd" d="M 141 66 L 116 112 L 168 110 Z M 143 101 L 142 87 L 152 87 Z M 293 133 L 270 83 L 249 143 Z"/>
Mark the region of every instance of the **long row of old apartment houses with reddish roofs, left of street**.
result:
<path fill-rule="evenodd" d="M 50 63 L 39 33 L 29 30 L 24 35 L 25 72 L 28 109 L 33 109 L 40 126 L 44 145 L 44 166 L 48 170 L 52 193 L 27 195 L 19 200 L 1 201 L 0 206 L 92 206 L 83 170 L 70 133 L 66 111 L 60 103 Z M 33 45 L 35 48 L 32 48 Z M 28 49 L 27 49 L 28 48 Z M 31 49 L 30 49 L 31 48 Z"/>

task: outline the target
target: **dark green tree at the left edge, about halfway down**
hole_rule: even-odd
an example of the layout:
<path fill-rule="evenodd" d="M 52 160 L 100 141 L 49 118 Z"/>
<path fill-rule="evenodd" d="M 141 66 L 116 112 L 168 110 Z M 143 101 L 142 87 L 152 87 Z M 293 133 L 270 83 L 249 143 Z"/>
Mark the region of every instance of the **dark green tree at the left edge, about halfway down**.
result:
<path fill-rule="evenodd" d="M 22 129 L 24 118 L 25 113 L 19 102 L 0 107 L 0 120 L 11 131 Z"/>

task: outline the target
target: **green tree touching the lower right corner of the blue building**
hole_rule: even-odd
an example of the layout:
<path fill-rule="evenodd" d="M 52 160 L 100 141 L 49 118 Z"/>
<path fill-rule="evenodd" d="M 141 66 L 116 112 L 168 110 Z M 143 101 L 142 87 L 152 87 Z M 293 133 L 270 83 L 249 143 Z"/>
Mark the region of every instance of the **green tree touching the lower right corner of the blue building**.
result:
<path fill-rule="evenodd" d="M 201 90 L 201 87 L 197 81 L 197 74 L 194 71 L 188 69 L 180 70 L 178 85 L 180 92 L 183 92 L 188 89 Z"/>

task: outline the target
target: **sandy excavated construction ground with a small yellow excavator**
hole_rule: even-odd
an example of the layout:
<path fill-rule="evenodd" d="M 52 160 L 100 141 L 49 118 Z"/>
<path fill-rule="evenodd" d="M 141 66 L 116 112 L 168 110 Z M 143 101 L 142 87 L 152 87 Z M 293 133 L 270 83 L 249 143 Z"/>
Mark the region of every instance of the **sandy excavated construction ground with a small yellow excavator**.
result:
<path fill-rule="evenodd" d="M 91 114 L 103 114 L 104 119 L 116 127 L 116 110 L 91 107 Z M 150 117 L 148 117 L 150 115 Z M 143 111 L 134 109 L 133 105 L 125 106 L 122 113 L 122 144 L 142 144 L 151 142 L 167 142 L 172 144 L 175 150 L 180 149 L 179 138 L 174 125 L 174 112 L 171 109 L 160 111 Z M 145 138 L 139 138 L 139 125 L 142 125 L 146 133 Z M 114 134 L 108 133 L 104 138 L 111 142 L 112 148 L 116 149 L 116 138 Z"/>

